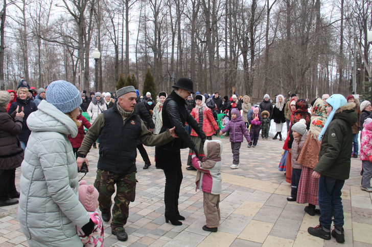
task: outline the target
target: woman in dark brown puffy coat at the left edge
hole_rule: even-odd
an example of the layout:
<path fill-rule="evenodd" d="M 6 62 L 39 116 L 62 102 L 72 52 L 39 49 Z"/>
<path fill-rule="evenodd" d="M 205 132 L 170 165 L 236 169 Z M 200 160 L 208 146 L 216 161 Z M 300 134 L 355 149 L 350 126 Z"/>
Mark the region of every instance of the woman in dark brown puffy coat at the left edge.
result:
<path fill-rule="evenodd" d="M 10 94 L 0 91 L 0 207 L 17 204 L 19 193 L 15 187 L 15 169 L 24 159 L 17 134 L 23 125 L 23 112 L 7 114 Z M 17 107 L 17 109 L 19 106 Z"/>

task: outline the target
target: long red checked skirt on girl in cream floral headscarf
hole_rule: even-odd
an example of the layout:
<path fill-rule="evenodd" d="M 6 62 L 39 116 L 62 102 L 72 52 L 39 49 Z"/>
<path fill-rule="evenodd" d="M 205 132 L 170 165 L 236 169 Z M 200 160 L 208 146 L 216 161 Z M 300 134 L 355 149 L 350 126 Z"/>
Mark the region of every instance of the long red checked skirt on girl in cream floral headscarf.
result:
<path fill-rule="evenodd" d="M 297 190 L 297 202 L 318 205 L 319 178 L 313 178 L 313 169 L 303 167 Z"/>

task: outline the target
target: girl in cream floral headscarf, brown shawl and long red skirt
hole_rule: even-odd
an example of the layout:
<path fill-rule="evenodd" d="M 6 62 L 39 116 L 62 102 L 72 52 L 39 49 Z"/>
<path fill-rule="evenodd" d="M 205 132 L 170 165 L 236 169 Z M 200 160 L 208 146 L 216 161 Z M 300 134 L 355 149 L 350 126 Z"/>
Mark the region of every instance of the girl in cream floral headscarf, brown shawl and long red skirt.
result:
<path fill-rule="evenodd" d="M 313 178 L 311 175 L 318 162 L 321 145 L 321 142 L 318 141 L 318 136 L 324 127 L 325 120 L 327 120 L 325 107 L 327 107 L 325 100 L 318 98 L 315 101 L 308 137 L 297 158 L 297 162 L 303 166 L 298 184 L 297 202 L 300 204 L 309 203 L 305 207 L 305 212 L 311 216 L 314 216 L 315 213 L 320 214 L 319 209 L 315 210 L 315 205 L 318 205 L 319 179 Z"/>

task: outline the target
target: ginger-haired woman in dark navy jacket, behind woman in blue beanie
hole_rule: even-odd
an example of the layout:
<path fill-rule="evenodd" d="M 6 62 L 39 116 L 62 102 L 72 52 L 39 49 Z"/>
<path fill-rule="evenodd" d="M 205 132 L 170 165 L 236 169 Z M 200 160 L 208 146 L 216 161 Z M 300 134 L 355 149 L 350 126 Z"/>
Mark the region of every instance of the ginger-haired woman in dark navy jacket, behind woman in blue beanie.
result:
<path fill-rule="evenodd" d="M 27 126 L 27 118 L 33 112 L 37 111 L 37 106 L 35 102 L 33 102 L 30 98 L 27 98 L 29 90 L 27 88 L 19 88 L 17 92 L 17 98 L 15 102 L 13 102 L 9 107 L 8 114 L 11 115 L 18 107 L 18 113 L 24 112 L 25 117 L 23 118 L 23 125 L 22 131 L 18 134 L 18 138 L 20 141 L 20 145 L 22 149 L 25 151 L 27 142 L 29 141 L 29 136 L 31 134 L 31 130 Z"/>

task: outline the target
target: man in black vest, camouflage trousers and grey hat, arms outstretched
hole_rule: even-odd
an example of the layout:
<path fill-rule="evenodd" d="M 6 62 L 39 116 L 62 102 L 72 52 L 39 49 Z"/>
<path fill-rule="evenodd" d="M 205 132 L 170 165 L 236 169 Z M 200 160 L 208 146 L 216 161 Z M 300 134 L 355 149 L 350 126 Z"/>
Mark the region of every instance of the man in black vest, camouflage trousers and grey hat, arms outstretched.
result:
<path fill-rule="evenodd" d="M 172 141 L 177 135 L 174 127 L 158 135 L 147 130 L 134 108 L 137 95 L 133 86 L 118 90 L 117 97 L 114 106 L 98 115 L 89 128 L 78 150 L 77 164 L 79 169 L 83 162 L 88 164 L 86 155 L 100 136 L 100 156 L 94 184 L 99 192 L 98 202 L 103 220 L 109 222 L 111 196 L 115 192 L 115 184 L 117 185 L 112 208 L 111 233 L 116 235 L 118 240 L 126 241 L 128 235 L 124 225 L 128 219 L 129 203 L 135 199 L 137 140 L 146 146 L 161 146 Z"/>

